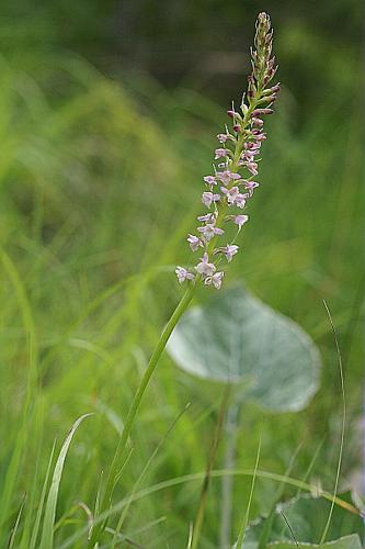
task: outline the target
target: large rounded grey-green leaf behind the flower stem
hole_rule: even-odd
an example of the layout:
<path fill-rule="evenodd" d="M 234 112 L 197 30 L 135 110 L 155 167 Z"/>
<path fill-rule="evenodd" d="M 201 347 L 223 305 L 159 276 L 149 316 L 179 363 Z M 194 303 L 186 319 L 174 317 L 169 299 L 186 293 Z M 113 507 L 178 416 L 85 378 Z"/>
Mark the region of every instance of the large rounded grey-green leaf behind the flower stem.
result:
<path fill-rule="evenodd" d="M 301 410 L 318 389 L 320 356 L 313 341 L 242 287 L 190 309 L 168 351 L 189 373 L 244 382 L 243 397 L 272 411 Z"/>

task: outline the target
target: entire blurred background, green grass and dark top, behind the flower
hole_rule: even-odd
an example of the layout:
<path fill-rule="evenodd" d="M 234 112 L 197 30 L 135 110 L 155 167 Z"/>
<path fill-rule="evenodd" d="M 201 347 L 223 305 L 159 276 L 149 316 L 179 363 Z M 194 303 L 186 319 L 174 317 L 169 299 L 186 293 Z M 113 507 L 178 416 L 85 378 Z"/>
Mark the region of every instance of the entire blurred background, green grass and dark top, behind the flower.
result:
<path fill-rule="evenodd" d="M 173 269 L 187 260 L 201 180 L 225 111 L 246 87 L 261 10 L 272 15 L 282 93 L 267 122 L 243 253 L 225 283 L 244 281 L 301 324 L 323 370 L 300 414 L 247 406 L 237 462 L 253 467 L 262 433 L 262 469 L 284 473 L 301 442 L 293 470 L 301 479 L 323 441 L 311 478 L 331 490 L 341 391 L 326 299 L 349 408 L 341 486 L 361 490 L 362 2 L 3 1 L 1 541 L 26 493 L 18 534 L 26 547 L 53 441 L 58 448 L 76 417 L 93 411 L 68 457 L 57 542 L 87 524 L 75 502 L 93 507 L 140 372 L 181 295 Z M 116 501 L 186 402 L 144 486 L 204 470 L 220 393 L 163 358 Z M 235 482 L 236 530 L 249 489 L 246 479 Z M 202 547 L 217 547 L 219 490 L 213 482 Z M 275 490 L 258 482 L 253 515 L 267 511 Z M 139 500 L 126 533 L 148 547 L 185 547 L 198 494 L 195 482 Z"/>

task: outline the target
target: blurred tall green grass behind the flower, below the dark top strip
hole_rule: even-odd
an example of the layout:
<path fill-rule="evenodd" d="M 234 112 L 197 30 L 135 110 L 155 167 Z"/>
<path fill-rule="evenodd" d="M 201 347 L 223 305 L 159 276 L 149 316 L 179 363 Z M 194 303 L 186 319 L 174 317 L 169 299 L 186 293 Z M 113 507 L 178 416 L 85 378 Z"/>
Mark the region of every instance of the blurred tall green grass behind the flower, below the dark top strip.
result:
<path fill-rule="evenodd" d="M 350 424 L 361 411 L 362 144 L 358 91 L 350 78 L 356 60 L 349 63 L 341 82 L 328 82 L 335 93 L 309 104 L 305 115 L 284 87 L 271 122 L 276 139 L 265 146 L 263 189 L 250 206 L 256 222 L 231 267 L 232 279 L 244 279 L 300 320 L 326 363 L 322 390 L 305 413 L 270 417 L 248 407 L 240 468 L 253 467 L 260 433 L 260 469 L 278 473 L 304 439 L 297 478 L 324 435 L 337 440 L 338 373 L 323 296 L 344 351 Z M 173 266 L 197 213 L 223 114 L 196 91 L 167 91 L 130 75 L 113 81 L 76 57 L 23 56 L 0 65 L 0 546 L 12 539 L 25 549 L 39 541 L 34 528 L 39 535 L 45 528 L 39 508 L 54 440 L 58 455 L 75 419 L 95 412 L 68 450 L 54 534 L 60 547 L 88 530 L 85 509 L 95 506 L 137 380 L 179 296 Z M 133 432 L 116 503 L 134 493 L 150 456 L 140 488 L 205 470 L 219 393 L 162 359 Z M 331 482 L 323 463 L 332 462 L 333 471 L 335 459 L 332 445 L 323 445 L 312 474 Z M 355 463 L 355 450 L 345 446 L 343 474 Z M 116 514 L 105 542 L 124 536 L 149 548 L 185 547 L 199 479 L 127 500 L 121 533 L 114 531 Z M 214 479 L 199 537 L 206 548 L 216 547 L 218 536 Z M 235 480 L 235 531 L 250 489 L 249 481 Z M 275 493 L 259 475 L 250 516 L 269 511 Z"/>

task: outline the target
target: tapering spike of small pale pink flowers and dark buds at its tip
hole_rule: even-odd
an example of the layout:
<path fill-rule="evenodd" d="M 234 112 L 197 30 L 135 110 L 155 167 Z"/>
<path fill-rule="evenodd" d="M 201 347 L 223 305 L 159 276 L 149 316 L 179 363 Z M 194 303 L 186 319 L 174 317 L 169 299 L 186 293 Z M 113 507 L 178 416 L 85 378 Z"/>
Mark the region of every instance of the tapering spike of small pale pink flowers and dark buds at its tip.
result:
<path fill-rule="evenodd" d="M 218 134 L 220 144 L 215 150 L 214 176 L 204 177 L 205 190 L 202 203 L 207 213 L 199 215 L 197 235 L 190 234 L 189 245 L 193 251 L 202 250 L 201 261 L 192 272 L 178 266 L 175 273 L 180 283 L 203 281 L 206 285 L 221 287 L 225 276 L 217 266 L 225 258 L 230 262 L 238 253 L 235 244 L 242 226 L 249 220 L 241 213 L 248 200 L 253 195 L 259 183 L 259 155 L 261 144 L 266 139 L 263 132 L 263 117 L 272 114 L 272 105 L 280 91 L 280 83 L 269 87 L 274 78 L 277 65 L 272 56 L 273 31 L 270 16 L 260 13 L 256 20 L 254 48 L 251 48 L 252 72 L 248 77 L 248 90 L 243 94 L 240 112 L 232 109 L 227 112 L 231 119 L 231 131 Z M 225 234 L 226 223 L 236 226 L 236 236 L 224 246 L 217 246 L 217 239 Z M 212 258 L 217 258 L 216 264 Z"/>

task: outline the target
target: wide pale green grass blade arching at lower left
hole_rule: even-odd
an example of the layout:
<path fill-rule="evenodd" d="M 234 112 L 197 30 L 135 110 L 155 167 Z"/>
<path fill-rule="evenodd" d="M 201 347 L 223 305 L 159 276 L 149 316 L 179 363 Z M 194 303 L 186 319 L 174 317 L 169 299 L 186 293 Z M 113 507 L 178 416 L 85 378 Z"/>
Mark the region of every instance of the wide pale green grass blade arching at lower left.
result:
<path fill-rule="evenodd" d="M 54 525 L 56 517 L 56 506 L 57 506 L 58 490 L 62 475 L 65 459 L 77 428 L 79 427 L 81 422 L 83 422 L 83 419 L 85 417 L 89 417 L 90 415 L 92 414 L 84 414 L 75 422 L 75 424 L 71 427 L 71 430 L 69 432 L 69 434 L 65 439 L 65 442 L 57 458 L 46 503 L 39 549 L 52 549 L 54 547 Z"/>

